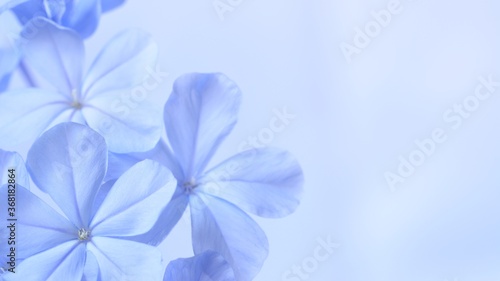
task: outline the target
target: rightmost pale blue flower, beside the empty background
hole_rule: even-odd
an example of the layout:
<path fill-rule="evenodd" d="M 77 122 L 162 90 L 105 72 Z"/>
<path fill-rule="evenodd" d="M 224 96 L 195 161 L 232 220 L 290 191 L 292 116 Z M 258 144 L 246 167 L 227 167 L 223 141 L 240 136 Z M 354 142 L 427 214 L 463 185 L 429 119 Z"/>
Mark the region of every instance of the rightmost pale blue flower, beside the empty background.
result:
<path fill-rule="evenodd" d="M 155 227 L 136 239 L 158 244 L 189 205 L 195 254 L 220 253 L 236 279 L 246 281 L 260 271 L 268 242 L 244 211 L 268 218 L 292 213 L 303 174 L 288 152 L 274 148 L 244 151 L 207 169 L 236 124 L 240 100 L 238 87 L 222 74 L 177 79 L 164 112 L 170 147 L 160 143 L 162 156 L 154 156 L 177 179 L 176 194 Z"/>

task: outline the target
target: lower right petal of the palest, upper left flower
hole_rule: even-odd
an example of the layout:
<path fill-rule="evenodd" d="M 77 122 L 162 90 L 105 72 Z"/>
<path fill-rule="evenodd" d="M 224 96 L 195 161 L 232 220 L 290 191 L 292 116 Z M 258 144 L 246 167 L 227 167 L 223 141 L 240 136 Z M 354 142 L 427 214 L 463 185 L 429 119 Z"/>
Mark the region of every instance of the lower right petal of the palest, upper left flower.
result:
<path fill-rule="evenodd" d="M 161 110 L 158 104 L 144 101 L 137 108 L 113 107 L 119 96 L 128 93 L 104 93 L 82 109 L 87 124 L 99 132 L 115 153 L 141 152 L 152 149 L 162 133 Z M 115 95 L 116 94 L 116 95 Z M 123 110 L 123 111 L 122 111 Z"/>

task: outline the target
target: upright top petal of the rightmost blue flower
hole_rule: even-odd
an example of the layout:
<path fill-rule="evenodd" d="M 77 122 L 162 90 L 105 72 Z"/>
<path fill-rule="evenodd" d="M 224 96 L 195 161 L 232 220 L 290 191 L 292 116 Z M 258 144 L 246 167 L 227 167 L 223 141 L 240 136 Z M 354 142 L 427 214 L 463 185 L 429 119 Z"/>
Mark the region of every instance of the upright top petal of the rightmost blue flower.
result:
<path fill-rule="evenodd" d="M 241 93 L 223 74 L 192 73 L 175 81 L 165 126 L 184 179 L 196 178 L 236 124 Z"/>

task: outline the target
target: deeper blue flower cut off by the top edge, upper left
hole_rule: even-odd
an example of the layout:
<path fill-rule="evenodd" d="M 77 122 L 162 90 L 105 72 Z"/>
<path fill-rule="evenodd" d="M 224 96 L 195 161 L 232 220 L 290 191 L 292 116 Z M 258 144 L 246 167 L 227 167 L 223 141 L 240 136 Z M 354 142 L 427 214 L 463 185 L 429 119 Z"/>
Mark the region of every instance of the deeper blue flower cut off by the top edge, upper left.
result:
<path fill-rule="evenodd" d="M 86 38 L 94 33 L 102 13 L 122 5 L 125 0 L 14 0 L 4 5 L 12 9 L 22 24 L 44 17 L 77 31 Z M 0 7 L 0 11 L 2 7 Z"/>

